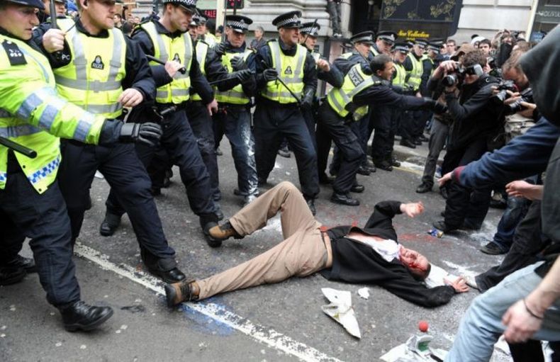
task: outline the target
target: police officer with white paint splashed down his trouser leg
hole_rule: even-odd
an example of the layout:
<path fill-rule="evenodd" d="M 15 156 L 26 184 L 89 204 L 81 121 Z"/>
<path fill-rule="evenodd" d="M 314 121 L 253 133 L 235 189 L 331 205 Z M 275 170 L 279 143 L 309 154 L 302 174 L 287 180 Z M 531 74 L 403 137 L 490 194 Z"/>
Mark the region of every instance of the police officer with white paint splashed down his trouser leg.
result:
<path fill-rule="evenodd" d="M 215 144 L 219 145 L 225 135 L 230 140 L 237 189 L 235 194 L 243 196 L 247 205 L 259 195 L 257 165 L 254 160 L 254 136 L 251 131 L 251 97 L 257 91 L 254 78 L 254 52 L 247 48 L 245 38 L 252 20 L 247 16 L 225 17 L 225 42 L 215 46 L 223 67 L 228 72 L 248 72 L 241 84 L 227 91 L 216 91 L 220 103 L 214 119 Z"/>

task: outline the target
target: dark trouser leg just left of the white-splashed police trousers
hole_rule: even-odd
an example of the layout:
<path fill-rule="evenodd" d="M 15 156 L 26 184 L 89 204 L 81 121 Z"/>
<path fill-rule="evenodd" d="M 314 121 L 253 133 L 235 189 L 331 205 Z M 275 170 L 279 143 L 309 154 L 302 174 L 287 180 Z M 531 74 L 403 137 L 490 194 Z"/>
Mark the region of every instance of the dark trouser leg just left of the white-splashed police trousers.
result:
<path fill-rule="evenodd" d="M 201 101 L 191 101 L 186 107 L 186 117 L 193 130 L 198 151 L 201 153 L 202 162 L 206 166 L 214 200 L 220 198 L 220 188 L 218 181 L 218 160 L 215 154 L 214 130 L 212 127 L 212 117 L 208 113 L 208 108 Z M 256 177 L 256 176 L 255 176 Z"/>

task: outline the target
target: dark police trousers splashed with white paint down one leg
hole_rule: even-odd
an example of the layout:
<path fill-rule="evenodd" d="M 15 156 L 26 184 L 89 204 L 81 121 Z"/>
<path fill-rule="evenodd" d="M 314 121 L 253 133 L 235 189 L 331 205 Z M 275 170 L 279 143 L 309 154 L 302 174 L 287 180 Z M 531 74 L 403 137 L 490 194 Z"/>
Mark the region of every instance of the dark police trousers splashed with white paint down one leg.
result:
<path fill-rule="evenodd" d="M 213 116 L 213 127 L 215 145 L 220 145 L 223 135 L 230 140 L 240 194 L 258 195 L 259 180 L 254 159 L 254 136 L 251 130 L 251 113 L 247 111 L 247 106 L 220 103 L 220 111 Z"/>

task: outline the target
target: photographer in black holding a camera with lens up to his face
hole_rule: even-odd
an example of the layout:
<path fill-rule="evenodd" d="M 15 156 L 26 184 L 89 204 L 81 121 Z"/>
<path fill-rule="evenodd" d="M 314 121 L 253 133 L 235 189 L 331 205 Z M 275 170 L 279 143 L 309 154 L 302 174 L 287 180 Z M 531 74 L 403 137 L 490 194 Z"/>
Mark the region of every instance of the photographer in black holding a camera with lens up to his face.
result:
<path fill-rule="evenodd" d="M 491 101 L 492 86 L 498 79 L 483 72 L 486 56 L 480 50 L 467 52 L 459 63 L 447 61 L 439 65 L 438 74 L 447 74 L 442 82 L 445 101 L 454 125 L 447 147 L 446 169 L 479 159 L 488 150 L 488 141 L 501 126 L 501 109 Z M 459 89 L 459 98 L 457 98 Z M 480 228 L 490 203 L 491 188 L 470 189 L 453 183 L 445 206 L 445 219 L 434 227 L 450 232 L 466 227 Z M 472 195 L 471 195 L 472 194 Z"/>

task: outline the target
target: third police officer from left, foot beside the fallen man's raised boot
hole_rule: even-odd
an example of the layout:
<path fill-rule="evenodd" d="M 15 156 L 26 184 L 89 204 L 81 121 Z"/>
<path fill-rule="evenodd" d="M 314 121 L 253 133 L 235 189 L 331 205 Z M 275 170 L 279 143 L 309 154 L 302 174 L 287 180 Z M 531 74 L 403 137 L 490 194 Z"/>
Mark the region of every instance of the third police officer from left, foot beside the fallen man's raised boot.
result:
<path fill-rule="evenodd" d="M 133 33 L 133 40 L 138 42 L 147 55 L 166 62 L 160 65 L 150 62 L 155 78 L 157 94 L 155 98 L 156 113 L 162 115 L 163 136 L 160 144 L 167 149 L 173 164 L 179 166 L 179 175 L 186 188 L 191 210 L 198 215 L 204 234 L 218 218 L 223 217 L 218 203 L 212 198 L 212 188 L 208 170 L 198 150 L 196 137 L 186 118 L 185 107 L 189 101 L 189 88 L 201 97 L 208 112 L 215 110 L 218 103 L 213 90 L 196 60 L 196 50 L 189 33 L 186 33 L 196 12 L 196 0 L 165 0 L 163 15 L 159 20 L 151 20 L 140 25 Z M 185 73 L 179 72 L 184 67 Z M 150 108 L 141 111 L 142 116 L 150 114 Z M 150 164 L 154 149 L 137 147 L 142 162 Z M 118 195 L 110 195 L 108 213 L 118 213 L 116 205 Z M 120 198 L 120 196 L 119 196 Z M 221 214 L 221 215 L 218 215 Z M 221 243 L 206 239 L 211 247 Z"/>

